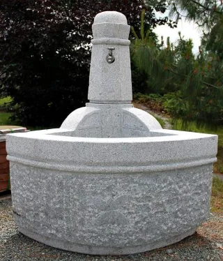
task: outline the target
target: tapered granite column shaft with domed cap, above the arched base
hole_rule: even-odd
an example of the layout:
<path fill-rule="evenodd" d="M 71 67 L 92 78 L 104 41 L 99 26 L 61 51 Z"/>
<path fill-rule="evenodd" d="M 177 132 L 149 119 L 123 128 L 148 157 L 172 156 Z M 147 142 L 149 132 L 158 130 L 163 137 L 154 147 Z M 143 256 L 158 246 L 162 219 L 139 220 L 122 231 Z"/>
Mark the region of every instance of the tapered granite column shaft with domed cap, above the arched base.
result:
<path fill-rule="evenodd" d="M 91 103 L 131 103 L 130 26 L 125 15 L 103 12 L 95 16 L 89 80 Z M 114 47 L 115 61 L 108 64 L 107 48 Z"/>

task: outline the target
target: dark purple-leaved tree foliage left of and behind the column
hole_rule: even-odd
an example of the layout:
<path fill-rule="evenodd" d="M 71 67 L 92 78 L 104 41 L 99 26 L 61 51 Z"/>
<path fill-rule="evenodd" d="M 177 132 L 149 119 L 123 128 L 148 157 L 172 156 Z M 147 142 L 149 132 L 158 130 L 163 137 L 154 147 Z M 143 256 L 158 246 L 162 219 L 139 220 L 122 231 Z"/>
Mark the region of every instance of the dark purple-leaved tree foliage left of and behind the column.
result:
<path fill-rule="evenodd" d="M 142 8 L 141 0 L 1 0 L 0 95 L 13 98 L 14 119 L 58 126 L 83 106 L 93 17 L 116 10 L 137 30 Z M 167 22 L 155 17 L 160 8 L 164 11 L 159 4 L 146 8 L 147 28 Z"/>

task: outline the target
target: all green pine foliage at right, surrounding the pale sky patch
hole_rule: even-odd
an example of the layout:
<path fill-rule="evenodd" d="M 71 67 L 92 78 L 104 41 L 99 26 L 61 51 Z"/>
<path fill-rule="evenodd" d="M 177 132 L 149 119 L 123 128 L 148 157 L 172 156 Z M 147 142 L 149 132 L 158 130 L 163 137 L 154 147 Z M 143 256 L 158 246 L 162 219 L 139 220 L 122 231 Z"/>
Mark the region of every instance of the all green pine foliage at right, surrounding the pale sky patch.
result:
<path fill-rule="evenodd" d="M 149 6 L 155 1 L 146 0 L 146 4 Z M 203 30 L 199 54 L 193 54 L 192 40 L 184 40 L 181 35 L 175 46 L 169 43 L 169 39 L 166 45 L 162 40 L 159 46 L 151 39 L 145 43 L 140 37 L 132 48 L 135 64 L 147 73 L 151 90 L 166 94 L 165 105 L 172 116 L 185 122 L 197 121 L 197 124 L 216 126 L 223 120 L 223 1 L 159 2 L 166 6 L 176 22 L 186 18 L 196 22 Z M 167 94 L 169 91 L 172 93 Z"/>

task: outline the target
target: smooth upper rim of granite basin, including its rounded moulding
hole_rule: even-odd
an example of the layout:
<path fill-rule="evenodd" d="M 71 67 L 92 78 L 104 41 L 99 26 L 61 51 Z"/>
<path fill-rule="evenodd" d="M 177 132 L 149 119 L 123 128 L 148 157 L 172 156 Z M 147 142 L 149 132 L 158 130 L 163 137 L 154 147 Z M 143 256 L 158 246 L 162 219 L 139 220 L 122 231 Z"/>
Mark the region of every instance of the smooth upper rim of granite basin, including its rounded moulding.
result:
<path fill-rule="evenodd" d="M 63 132 L 56 129 L 6 135 L 8 160 L 50 170 L 82 173 L 154 172 L 216 161 L 216 135 L 92 138 L 53 135 L 55 131 Z M 167 133 L 179 132 L 168 130 Z M 17 149 L 14 142 L 17 142 Z"/>

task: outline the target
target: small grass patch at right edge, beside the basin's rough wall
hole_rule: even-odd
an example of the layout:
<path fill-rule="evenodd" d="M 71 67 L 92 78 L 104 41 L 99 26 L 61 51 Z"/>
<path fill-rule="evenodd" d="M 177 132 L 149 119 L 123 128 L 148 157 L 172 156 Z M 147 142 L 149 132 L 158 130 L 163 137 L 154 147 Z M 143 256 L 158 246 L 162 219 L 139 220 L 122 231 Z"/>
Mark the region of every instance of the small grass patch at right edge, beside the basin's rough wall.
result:
<path fill-rule="evenodd" d="M 217 177 L 213 177 L 210 209 L 212 212 L 223 214 L 223 181 Z"/>

